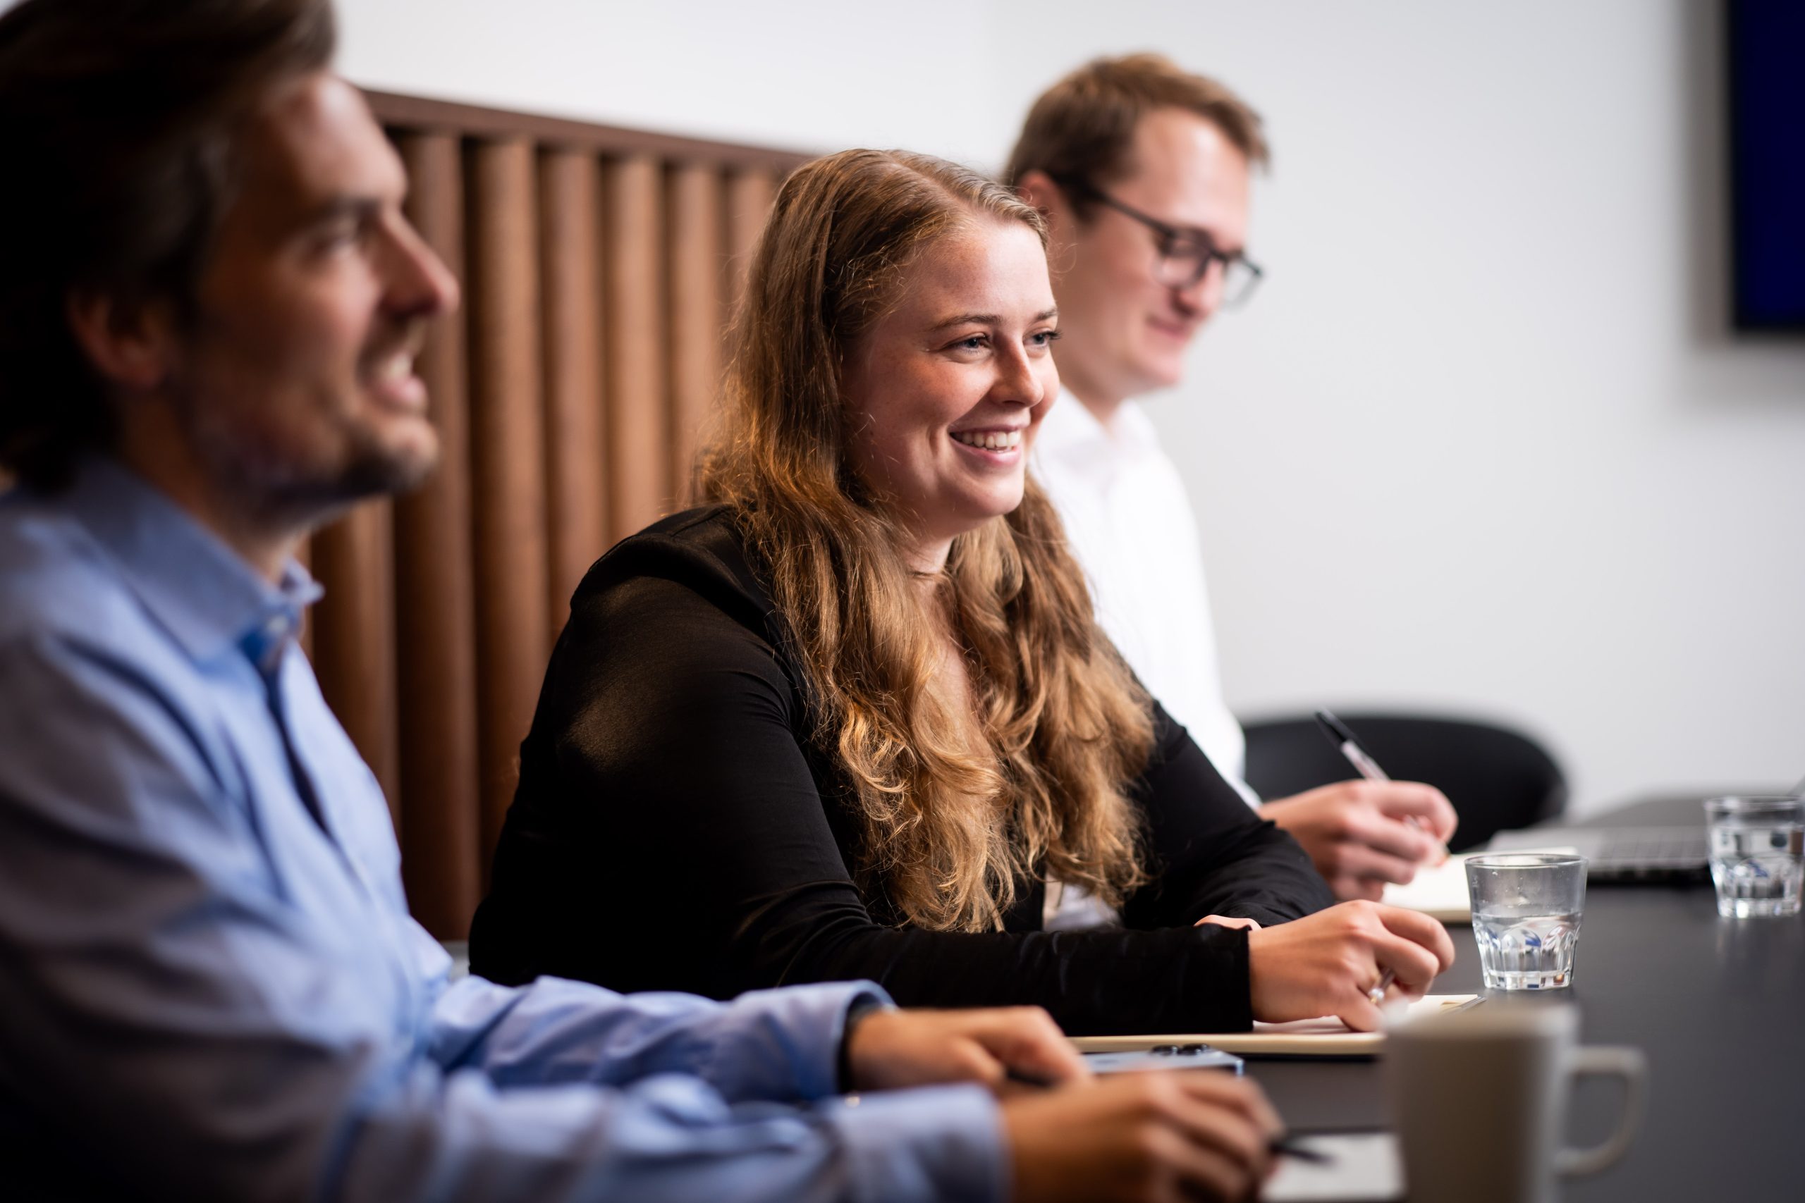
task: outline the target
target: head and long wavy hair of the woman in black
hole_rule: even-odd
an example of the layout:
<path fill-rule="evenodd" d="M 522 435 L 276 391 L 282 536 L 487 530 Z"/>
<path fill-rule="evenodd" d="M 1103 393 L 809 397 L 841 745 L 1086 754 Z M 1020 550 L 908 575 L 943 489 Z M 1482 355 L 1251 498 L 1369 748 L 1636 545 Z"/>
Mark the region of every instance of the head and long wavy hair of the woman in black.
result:
<path fill-rule="evenodd" d="M 1007 189 L 937 159 L 847 152 L 800 171 L 702 465 L 850 776 L 848 864 L 935 929 L 1002 927 L 1041 860 L 1112 900 L 1141 880 L 1121 783 L 1148 756 L 1144 694 L 1088 637 L 1027 447 L 973 445 L 1032 438 L 1058 391 L 1041 233 Z M 818 298 L 760 290 L 798 256 L 825 269 Z"/>

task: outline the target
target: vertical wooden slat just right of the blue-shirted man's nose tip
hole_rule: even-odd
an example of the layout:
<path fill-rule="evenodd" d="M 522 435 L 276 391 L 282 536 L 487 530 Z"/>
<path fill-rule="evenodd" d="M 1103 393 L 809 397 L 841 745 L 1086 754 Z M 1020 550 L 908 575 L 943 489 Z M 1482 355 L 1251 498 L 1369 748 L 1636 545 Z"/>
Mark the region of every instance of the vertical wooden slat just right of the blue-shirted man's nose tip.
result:
<path fill-rule="evenodd" d="M 478 142 L 467 166 L 477 680 L 487 871 L 551 651 L 545 622 L 551 586 L 534 150 L 525 141 Z"/>

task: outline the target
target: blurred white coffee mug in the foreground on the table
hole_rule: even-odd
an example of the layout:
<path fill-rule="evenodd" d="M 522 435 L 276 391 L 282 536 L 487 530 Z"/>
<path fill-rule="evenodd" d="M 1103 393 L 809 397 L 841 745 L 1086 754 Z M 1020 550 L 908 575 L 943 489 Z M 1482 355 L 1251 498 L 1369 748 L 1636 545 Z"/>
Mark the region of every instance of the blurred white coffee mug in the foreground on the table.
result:
<path fill-rule="evenodd" d="M 1386 1032 L 1384 1079 L 1410 1203 L 1550 1203 L 1556 1178 L 1596 1174 L 1630 1147 L 1648 1061 L 1637 1048 L 1576 1048 L 1572 1005 L 1493 999 Z M 1624 1084 L 1617 1131 L 1563 1147 L 1576 1077 Z"/>

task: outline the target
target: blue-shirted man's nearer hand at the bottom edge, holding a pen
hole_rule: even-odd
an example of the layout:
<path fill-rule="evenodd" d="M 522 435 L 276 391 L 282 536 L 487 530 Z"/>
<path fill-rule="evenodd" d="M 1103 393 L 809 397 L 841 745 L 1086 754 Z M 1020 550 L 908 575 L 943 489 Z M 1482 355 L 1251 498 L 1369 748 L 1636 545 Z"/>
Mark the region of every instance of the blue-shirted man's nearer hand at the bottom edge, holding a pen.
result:
<path fill-rule="evenodd" d="M 1253 1198 L 1283 1133 L 1251 1079 L 1123 1073 L 1004 1102 L 1016 1203 Z"/>

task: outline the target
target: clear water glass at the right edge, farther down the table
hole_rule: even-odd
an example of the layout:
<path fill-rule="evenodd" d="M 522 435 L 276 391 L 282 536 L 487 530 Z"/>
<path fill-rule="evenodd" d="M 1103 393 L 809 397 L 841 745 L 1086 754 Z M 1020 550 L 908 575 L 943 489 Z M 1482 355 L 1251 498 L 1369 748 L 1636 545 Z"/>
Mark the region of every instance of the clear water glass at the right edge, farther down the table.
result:
<path fill-rule="evenodd" d="M 1711 797 L 1711 880 L 1724 918 L 1798 914 L 1805 882 L 1805 799 Z"/>

